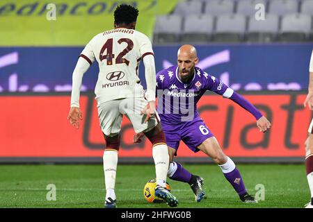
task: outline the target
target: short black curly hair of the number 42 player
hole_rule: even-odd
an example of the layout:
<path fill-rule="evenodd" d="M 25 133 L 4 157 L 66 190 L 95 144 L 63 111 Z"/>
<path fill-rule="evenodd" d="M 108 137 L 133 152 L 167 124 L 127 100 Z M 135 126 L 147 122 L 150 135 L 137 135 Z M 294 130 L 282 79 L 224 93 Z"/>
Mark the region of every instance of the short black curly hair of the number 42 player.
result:
<path fill-rule="evenodd" d="M 118 6 L 114 11 L 114 23 L 115 24 L 131 24 L 136 22 L 139 11 L 137 8 L 131 5 L 122 4 Z"/>

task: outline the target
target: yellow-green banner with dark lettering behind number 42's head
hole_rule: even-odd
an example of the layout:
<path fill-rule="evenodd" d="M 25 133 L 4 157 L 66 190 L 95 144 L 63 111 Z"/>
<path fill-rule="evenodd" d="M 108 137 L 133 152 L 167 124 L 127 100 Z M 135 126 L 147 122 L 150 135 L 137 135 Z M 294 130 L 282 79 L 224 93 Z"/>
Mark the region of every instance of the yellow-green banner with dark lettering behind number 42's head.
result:
<path fill-rule="evenodd" d="M 113 12 L 120 3 L 129 3 L 138 8 L 140 19 L 136 29 L 151 37 L 155 16 L 168 14 L 177 2 L 179 0 L 1 1 L 0 45 L 85 45 L 97 33 L 113 29 Z M 47 14 L 52 10 L 51 4 L 56 6 L 56 20 L 47 19 Z"/>

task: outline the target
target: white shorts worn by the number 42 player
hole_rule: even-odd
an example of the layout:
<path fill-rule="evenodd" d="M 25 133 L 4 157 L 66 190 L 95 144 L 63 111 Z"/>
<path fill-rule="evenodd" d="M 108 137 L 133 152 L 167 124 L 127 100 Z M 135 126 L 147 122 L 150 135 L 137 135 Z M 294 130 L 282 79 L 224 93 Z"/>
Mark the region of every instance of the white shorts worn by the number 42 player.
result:
<path fill-rule="evenodd" d="M 113 136 L 120 133 L 124 114 L 131 121 L 136 133 L 157 126 L 157 114 L 144 123 L 146 115 L 141 115 L 141 110 L 145 105 L 147 101 L 143 97 L 115 99 L 97 105 L 100 127 L 104 135 Z"/>

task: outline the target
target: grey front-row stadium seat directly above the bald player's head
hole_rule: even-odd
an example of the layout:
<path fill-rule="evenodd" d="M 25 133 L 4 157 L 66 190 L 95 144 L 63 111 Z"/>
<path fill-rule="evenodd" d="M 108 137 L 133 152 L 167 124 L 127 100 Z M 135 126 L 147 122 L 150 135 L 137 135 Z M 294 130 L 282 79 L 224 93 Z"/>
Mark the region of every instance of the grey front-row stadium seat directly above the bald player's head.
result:
<path fill-rule="evenodd" d="M 191 15 L 185 17 L 182 42 L 207 43 L 213 32 L 214 18 L 211 15 Z"/>

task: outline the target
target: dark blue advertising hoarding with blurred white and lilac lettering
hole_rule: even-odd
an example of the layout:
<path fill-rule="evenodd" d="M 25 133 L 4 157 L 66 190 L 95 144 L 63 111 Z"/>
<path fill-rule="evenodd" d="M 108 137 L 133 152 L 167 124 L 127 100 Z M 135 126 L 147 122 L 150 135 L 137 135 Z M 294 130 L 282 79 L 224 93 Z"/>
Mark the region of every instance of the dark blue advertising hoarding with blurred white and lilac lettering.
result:
<path fill-rule="evenodd" d="M 177 46 L 154 46 L 157 71 L 177 64 Z M 307 89 L 312 44 L 199 45 L 198 67 L 235 90 Z M 0 92 L 70 92 L 83 47 L 0 47 Z M 43 56 L 44 55 L 44 56 Z M 82 91 L 93 91 L 93 64 Z M 144 67 L 140 78 L 145 85 Z"/>

